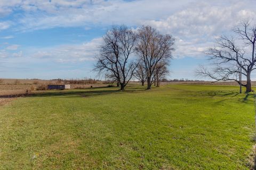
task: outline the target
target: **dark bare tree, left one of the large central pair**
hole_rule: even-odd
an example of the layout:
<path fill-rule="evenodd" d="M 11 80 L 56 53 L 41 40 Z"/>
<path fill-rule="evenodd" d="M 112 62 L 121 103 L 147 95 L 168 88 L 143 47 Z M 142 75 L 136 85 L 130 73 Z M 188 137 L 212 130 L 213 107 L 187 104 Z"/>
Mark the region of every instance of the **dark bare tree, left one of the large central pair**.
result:
<path fill-rule="evenodd" d="M 103 44 L 100 47 L 100 55 L 94 71 L 107 73 L 120 84 L 120 90 L 124 90 L 127 83 L 133 77 L 138 63 L 131 60 L 137 36 L 126 26 L 113 27 L 103 36 Z"/>

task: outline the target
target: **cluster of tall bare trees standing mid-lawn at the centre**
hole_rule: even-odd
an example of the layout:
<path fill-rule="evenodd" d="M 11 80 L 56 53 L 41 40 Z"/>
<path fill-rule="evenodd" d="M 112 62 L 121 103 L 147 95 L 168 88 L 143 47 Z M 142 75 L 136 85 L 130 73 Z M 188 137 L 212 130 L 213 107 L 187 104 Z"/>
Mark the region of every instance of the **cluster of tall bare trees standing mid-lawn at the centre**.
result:
<path fill-rule="evenodd" d="M 147 89 L 169 73 L 174 38 L 162 35 L 150 26 L 134 31 L 122 25 L 113 27 L 103 36 L 94 71 L 105 73 L 124 90 L 127 83 L 138 79 Z"/>

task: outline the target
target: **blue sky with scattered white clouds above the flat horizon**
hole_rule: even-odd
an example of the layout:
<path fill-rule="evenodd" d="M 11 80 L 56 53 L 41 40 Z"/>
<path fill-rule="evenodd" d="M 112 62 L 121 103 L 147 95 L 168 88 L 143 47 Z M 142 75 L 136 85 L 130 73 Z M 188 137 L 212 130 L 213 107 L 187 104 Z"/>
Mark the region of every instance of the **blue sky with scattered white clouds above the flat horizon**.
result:
<path fill-rule="evenodd" d="M 0 78 L 98 79 L 92 69 L 102 36 L 125 24 L 175 37 L 169 79 L 202 79 L 194 72 L 209 64 L 204 52 L 253 19 L 255 6 L 255 0 L 1 0 Z"/>

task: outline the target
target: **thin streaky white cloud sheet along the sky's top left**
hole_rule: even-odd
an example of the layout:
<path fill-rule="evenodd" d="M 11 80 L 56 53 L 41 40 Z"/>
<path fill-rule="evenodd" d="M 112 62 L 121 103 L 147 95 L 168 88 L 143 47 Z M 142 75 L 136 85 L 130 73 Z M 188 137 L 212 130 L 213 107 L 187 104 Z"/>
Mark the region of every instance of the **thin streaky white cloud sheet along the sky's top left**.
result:
<path fill-rule="evenodd" d="M 45 1 L 45 0 L 6 0 L 0 2 L 0 11 L 6 8 L 22 10 L 19 15 L 17 30 L 46 29 L 53 27 L 87 28 L 91 24 L 138 24 L 143 20 L 159 19 L 177 11 L 182 5 L 192 0 L 172 1 L 154 0 L 79 0 L 79 1 Z M 138 17 L 139 16 L 139 17 Z"/>

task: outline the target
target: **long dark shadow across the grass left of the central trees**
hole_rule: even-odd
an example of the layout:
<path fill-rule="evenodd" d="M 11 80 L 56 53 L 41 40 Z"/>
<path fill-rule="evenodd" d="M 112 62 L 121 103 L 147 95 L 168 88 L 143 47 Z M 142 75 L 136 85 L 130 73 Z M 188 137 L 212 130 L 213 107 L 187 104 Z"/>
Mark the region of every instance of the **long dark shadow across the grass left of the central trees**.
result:
<path fill-rule="evenodd" d="M 116 88 L 93 88 L 93 89 L 82 89 L 82 90 L 56 90 L 50 92 L 43 92 L 40 94 L 33 94 L 31 97 L 90 97 L 90 96 L 100 96 L 100 95 L 110 95 L 110 94 L 120 94 L 120 93 L 131 93 L 142 91 L 144 89 L 129 89 L 125 91 L 120 91 Z"/>

